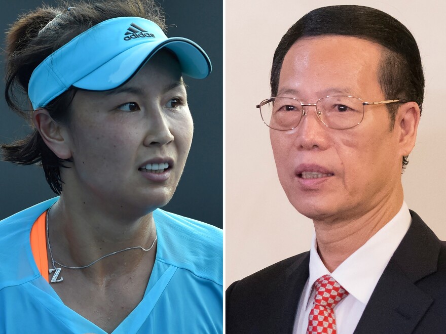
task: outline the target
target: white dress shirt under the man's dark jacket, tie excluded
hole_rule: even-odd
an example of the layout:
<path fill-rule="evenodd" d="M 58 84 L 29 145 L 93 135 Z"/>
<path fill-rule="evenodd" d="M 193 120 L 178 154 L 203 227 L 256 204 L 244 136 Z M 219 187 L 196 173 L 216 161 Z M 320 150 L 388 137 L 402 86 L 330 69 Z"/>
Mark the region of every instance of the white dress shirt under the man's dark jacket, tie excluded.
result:
<path fill-rule="evenodd" d="M 349 293 L 334 307 L 337 334 L 351 334 L 355 330 L 384 269 L 411 225 L 411 214 L 403 202 L 399 212 L 374 236 L 367 240 L 332 273 L 325 268 L 317 253 L 316 236 L 310 249 L 310 276 L 300 296 L 294 321 L 294 334 L 306 334 L 308 315 L 313 308 L 316 291 L 314 282 L 330 275 Z"/>

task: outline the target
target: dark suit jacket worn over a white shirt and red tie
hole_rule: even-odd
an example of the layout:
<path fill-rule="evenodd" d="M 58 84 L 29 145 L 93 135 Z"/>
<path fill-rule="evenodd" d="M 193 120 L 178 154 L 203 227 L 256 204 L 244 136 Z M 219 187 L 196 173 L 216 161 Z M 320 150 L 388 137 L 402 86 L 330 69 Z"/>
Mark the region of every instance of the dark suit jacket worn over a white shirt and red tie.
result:
<path fill-rule="evenodd" d="M 446 333 L 446 242 L 411 215 L 355 334 Z M 226 332 L 292 333 L 309 260 L 309 252 L 296 255 L 231 284 Z"/>

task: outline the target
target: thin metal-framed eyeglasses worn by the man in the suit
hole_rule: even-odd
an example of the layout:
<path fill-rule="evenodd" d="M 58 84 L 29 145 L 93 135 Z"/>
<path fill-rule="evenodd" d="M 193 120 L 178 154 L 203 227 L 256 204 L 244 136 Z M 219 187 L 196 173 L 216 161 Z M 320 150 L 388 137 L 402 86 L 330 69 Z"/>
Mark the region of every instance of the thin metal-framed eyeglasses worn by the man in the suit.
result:
<path fill-rule="evenodd" d="M 367 105 L 387 104 L 401 100 L 386 100 L 379 102 L 364 102 L 353 96 L 326 96 L 316 103 L 304 104 L 298 99 L 288 97 L 272 97 L 263 100 L 256 108 L 264 123 L 274 130 L 292 130 L 297 127 L 304 115 L 307 115 L 307 106 L 315 106 L 319 120 L 330 129 L 345 130 L 356 127 L 364 118 L 364 109 Z"/>

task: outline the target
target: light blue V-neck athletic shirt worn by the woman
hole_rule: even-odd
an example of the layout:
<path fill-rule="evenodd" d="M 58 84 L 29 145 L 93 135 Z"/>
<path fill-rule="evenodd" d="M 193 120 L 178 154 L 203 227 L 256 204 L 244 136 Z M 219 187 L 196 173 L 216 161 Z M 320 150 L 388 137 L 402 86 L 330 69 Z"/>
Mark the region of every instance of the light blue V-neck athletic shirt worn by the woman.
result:
<path fill-rule="evenodd" d="M 34 262 L 31 227 L 57 199 L 0 221 L 0 333 L 105 333 L 66 307 Z M 158 244 L 150 280 L 113 333 L 222 333 L 222 231 L 160 209 L 153 217 Z"/>

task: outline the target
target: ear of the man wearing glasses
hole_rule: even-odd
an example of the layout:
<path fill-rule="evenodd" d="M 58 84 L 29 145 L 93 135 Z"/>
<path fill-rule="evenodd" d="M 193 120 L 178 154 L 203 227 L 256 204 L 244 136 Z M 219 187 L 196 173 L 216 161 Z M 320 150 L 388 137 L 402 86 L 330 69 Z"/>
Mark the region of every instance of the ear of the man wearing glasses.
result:
<path fill-rule="evenodd" d="M 395 118 L 401 156 L 409 155 L 415 146 L 421 111 L 416 102 L 407 102 L 399 107 Z"/>

